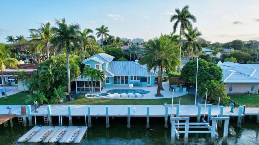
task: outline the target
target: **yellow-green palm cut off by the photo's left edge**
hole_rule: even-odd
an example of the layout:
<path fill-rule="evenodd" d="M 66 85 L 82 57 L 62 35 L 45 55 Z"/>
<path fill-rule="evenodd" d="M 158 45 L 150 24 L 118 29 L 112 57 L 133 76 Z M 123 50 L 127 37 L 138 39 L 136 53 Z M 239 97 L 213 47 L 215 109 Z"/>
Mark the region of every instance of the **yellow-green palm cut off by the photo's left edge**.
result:
<path fill-rule="evenodd" d="M 10 58 L 10 50 L 5 49 L 4 44 L 0 44 L 0 70 L 1 70 L 1 77 L 4 85 L 4 92 L 5 92 L 5 100 L 7 101 L 7 96 L 6 96 L 6 88 L 5 88 L 5 79 L 4 79 L 4 74 L 3 71 L 6 70 L 6 66 L 9 66 L 10 68 L 18 69 L 16 65 L 19 65 L 19 61 L 14 58 Z"/>

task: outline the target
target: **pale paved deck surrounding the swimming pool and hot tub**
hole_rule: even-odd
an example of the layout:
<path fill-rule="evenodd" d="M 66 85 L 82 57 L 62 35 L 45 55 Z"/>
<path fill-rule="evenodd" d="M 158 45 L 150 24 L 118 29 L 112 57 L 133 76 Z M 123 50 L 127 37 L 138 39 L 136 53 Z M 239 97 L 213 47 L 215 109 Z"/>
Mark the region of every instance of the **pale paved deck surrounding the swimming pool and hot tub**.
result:
<path fill-rule="evenodd" d="M 114 96 L 114 94 L 111 94 L 109 97 L 97 97 L 97 96 L 94 96 L 94 98 L 106 98 L 106 99 L 162 99 L 162 98 L 172 98 L 173 96 L 173 92 L 169 91 L 169 83 L 168 82 L 162 82 L 162 86 L 163 88 L 165 89 L 164 91 L 160 91 L 161 92 L 161 95 L 163 95 L 163 97 L 155 97 L 155 94 L 157 92 L 157 85 L 155 86 L 151 86 L 151 87 L 147 87 L 147 86 L 141 86 L 141 87 L 133 87 L 133 90 L 136 89 L 136 90 L 145 90 L 145 91 L 149 91 L 148 94 L 144 94 L 144 97 L 141 97 L 141 98 L 122 98 L 122 97 L 119 97 L 119 98 L 116 98 Z M 101 93 L 106 93 L 107 91 L 109 90 L 113 90 L 113 89 L 130 89 L 129 86 L 125 86 L 125 85 L 113 85 L 112 87 L 110 88 L 103 88 L 102 92 Z M 100 92 L 98 93 L 95 93 L 96 94 L 100 94 Z M 179 96 L 183 96 L 183 95 L 186 95 L 188 94 L 188 91 L 186 93 L 183 93 L 183 89 L 182 88 L 179 88 L 179 92 L 174 92 L 174 97 L 179 97 Z M 86 94 L 86 96 L 89 95 L 89 93 Z M 92 97 L 91 97 L 92 98 Z"/>

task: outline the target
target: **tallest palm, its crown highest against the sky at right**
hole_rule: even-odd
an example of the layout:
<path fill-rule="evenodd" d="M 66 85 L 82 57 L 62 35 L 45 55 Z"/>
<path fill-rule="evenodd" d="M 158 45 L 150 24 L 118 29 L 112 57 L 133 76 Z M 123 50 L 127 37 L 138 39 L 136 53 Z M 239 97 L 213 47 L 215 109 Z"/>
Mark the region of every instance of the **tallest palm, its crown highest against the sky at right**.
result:
<path fill-rule="evenodd" d="M 170 22 L 173 22 L 173 21 L 176 20 L 176 22 L 173 26 L 173 33 L 176 32 L 178 24 L 180 23 L 179 47 L 180 47 L 180 56 L 181 56 L 181 37 L 182 37 L 182 33 L 183 33 L 184 29 L 192 27 L 192 24 L 191 24 L 190 21 L 196 22 L 197 20 L 196 20 L 196 17 L 189 12 L 189 6 L 188 5 L 184 6 L 182 10 L 179 10 L 178 8 L 175 8 L 175 13 L 176 14 L 171 15 Z M 180 57 L 180 61 L 181 61 L 181 57 Z M 178 71 L 180 72 L 180 66 L 179 66 L 178 69 L 179 69 Z"/>

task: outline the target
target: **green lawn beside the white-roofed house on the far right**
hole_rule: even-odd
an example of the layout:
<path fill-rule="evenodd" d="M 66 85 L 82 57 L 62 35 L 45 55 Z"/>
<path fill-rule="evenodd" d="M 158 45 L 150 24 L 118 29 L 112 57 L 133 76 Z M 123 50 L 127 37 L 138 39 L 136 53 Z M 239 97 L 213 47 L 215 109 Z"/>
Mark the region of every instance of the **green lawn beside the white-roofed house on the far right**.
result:
<path fill-rule="evenodd" d="M 259 107 L 259 95 L 257 94 L 229 94 L 230 99 L 246 107 Z"/>

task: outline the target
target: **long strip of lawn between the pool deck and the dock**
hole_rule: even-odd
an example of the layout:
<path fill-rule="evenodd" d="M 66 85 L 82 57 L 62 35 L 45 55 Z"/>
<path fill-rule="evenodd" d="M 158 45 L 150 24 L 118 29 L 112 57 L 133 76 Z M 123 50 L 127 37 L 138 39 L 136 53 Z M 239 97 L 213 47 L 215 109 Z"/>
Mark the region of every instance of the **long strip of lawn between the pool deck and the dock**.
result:
<path fill-rule="evenodd" d="M 97 98 L 85 98 L 77 96 L 75 101 L 62 103 L 62 104 L 88 104 L 88 105 L 163 105 L 163 103 L 172 104 L 172 98 L 165 99 L 97 99 Z M 174 104 L 179 104 L 179 97 L 174 98 Z M 195 96 L 186 94 L 181 96 L 181 105 L 194 105 Z"/>

